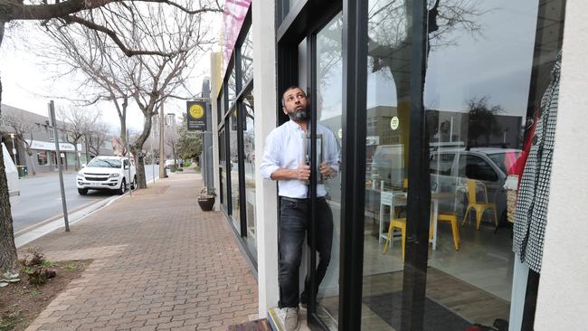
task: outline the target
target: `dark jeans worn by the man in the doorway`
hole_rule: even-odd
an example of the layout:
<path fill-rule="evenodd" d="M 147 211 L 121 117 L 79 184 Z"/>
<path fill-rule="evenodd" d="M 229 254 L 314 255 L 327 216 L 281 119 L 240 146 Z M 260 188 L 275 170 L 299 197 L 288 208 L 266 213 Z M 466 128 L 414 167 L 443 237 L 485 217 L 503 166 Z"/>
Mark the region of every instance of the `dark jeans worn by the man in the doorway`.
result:
<path fill-rule="evenodd" d="M 302 243 L 310 225 L 310 199 L 280 199 L 280 307 L 298 307 L 299 305 L 299 268 L 302 259 Z M 318 198 L 317 220 L 317 283 L 325 278 L 328 262 L 331 260 L 331 245 L 333 243 L 333 213 L 325 198 Z M 309 242 L 309 240 L 308 240 Z M 308 273 L 305 279 L 302 302 L 309 297 Z"/>

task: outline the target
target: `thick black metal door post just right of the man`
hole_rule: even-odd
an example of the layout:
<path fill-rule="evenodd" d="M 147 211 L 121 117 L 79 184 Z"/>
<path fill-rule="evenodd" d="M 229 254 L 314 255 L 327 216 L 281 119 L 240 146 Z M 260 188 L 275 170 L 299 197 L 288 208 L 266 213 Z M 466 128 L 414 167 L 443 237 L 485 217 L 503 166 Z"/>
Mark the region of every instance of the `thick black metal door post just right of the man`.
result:
<path fill-rule="evenodd" d="M 364 258 L 367 0 L 343 1 L 343 177 L 339 330 L 361 328 Z"/>

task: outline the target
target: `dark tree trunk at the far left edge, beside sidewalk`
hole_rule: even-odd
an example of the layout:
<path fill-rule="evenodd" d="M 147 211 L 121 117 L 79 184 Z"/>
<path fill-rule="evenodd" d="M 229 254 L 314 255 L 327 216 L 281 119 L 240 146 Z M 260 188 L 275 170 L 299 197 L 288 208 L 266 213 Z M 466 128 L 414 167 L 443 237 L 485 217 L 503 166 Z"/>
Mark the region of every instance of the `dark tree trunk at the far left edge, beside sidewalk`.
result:
<path fill-rule="evenodd" d="M 4 35 L 4 23 L 0 22 L 0 45 Z M 0 105 L 2 104 L 2 78 L 0 77 Z M 2 109 L 0 106 L 0 115 Z M 10 208 L 10 194 L 8 193 L 8 180 L 4 153 L 0 152 L 0 272 L 14 271 L 18 264 L 16 246 L 14 246 L 13 215 Z"/>

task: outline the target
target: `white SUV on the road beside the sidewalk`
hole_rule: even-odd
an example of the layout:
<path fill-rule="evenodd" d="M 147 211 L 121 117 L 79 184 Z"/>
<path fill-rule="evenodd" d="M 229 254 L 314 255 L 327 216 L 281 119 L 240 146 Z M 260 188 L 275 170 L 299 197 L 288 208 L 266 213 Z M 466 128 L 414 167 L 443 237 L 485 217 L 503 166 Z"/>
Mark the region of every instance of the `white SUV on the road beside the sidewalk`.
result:
<path fill-rule="evenodd" d="M 129 177 L 130 167 L 130 177 Z M 79 194 L 87 194 L 88 190 L 113 190 L 124 194 L 130 183 L 130 188 L 137 185 L 135 161 L 123 156 L 96 156 L 88 165 L 83 167 L 76 178 Z M 132 178 L 129 179 L 129 178 Z"/>

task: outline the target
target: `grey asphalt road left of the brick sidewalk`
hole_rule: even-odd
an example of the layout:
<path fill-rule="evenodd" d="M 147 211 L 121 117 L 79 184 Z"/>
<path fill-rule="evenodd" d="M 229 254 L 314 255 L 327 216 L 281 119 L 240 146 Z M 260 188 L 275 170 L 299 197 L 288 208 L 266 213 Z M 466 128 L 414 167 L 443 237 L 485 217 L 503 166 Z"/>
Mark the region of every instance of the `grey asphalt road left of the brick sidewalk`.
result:
<path fill-rule="evenodd" d="M 158 167 L 155 167 L 158 175 Z M 152 166 L 145 165 L 147 182 L 152 180 Z M 84 208 L 92 203 L 107 199 L 114 193 L 90 190 L 87 195 L 78 194 L 75 184 L 76 174 L 63 174 L 63 187 L 68 212 Z M 12 205 L 14 232 L 19 232 L 39 222 L 62 217 L 62 194 L 59 175 L 29 176 L 20 179 L 21 195 Z"/>

